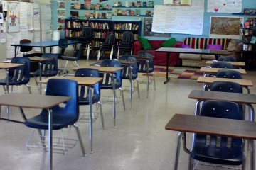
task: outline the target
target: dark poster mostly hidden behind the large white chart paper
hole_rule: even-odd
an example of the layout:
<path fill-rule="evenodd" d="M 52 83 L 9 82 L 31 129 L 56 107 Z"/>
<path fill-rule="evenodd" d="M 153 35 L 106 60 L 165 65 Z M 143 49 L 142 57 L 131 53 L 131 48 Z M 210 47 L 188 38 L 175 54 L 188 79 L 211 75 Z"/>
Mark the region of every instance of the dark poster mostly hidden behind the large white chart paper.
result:
<path fill-rule="evenodd" d="M 169 33 L 154 33 L 152 32 L 152 22 L 153 18 L 144 18 L 144 36 L 154 36 L 154 37 L 169 37 Z"/>

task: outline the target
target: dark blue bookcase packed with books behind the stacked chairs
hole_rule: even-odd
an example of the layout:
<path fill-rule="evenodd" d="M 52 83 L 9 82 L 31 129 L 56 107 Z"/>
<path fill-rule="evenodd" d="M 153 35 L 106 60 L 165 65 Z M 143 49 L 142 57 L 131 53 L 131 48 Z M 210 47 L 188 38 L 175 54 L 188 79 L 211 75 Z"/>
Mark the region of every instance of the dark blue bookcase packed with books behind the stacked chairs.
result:
<path fill-rule="evenodd" d="M 107 37 L 107 33 L 114 33 L 117 43 L 122 40 L 124 31 L 132 31 L 134 40 L 138 40 L 138 36 L 142 33 L 142 21 L 114 21 L 114 20 L 80 20 L 65 19 L 65 38 L 68 40 L 77 40 L 76 37 L 82 34 L 84 26 L 92 27 L 92 46 L 100 47 Z"/>

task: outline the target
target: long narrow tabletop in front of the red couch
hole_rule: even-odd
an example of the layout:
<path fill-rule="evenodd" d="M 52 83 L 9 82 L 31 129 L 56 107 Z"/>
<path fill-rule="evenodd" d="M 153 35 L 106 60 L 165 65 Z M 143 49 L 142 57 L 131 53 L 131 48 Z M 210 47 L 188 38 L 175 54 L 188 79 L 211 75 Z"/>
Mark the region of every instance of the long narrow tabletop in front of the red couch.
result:
<path fill-rule="evenodd" d="M 229 55 L 228 50 L 208 50 L 208 49 L 194 49 L 194 48 L 178 48 L 178 47 L 161 47 L 156 52 L 181 52 L 188 54 L 202 54 L 202 55 Z"/>

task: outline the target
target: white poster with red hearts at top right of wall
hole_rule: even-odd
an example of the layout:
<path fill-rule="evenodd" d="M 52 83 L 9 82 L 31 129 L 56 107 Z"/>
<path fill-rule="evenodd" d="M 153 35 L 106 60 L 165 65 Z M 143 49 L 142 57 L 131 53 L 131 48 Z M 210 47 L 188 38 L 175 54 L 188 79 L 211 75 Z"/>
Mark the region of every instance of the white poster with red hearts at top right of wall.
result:
<path fill-rule="evenodd" d="M 242 12 L 242 0 L 208 0 L 207 12 L 240 13 Z"/>

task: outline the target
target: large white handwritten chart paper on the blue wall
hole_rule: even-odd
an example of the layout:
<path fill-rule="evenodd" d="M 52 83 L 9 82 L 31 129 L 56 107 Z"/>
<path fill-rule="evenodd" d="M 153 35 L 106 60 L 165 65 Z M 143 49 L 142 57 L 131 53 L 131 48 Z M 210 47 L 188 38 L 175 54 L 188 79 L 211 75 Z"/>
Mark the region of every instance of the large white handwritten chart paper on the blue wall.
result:
<path fill-rule="evenodd" d="M 203 34 L 204 0 L 193 0 L 191 6 L 154 6 L 152 32 Z"/>

